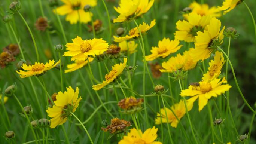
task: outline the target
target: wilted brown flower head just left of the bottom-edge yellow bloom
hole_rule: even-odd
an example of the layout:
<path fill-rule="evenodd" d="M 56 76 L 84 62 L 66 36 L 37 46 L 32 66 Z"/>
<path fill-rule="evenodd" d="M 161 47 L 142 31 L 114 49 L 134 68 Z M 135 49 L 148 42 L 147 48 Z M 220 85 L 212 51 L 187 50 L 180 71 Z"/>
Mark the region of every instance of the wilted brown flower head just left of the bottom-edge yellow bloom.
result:
<path fill-rule="evenodd" d="M 126 120 L 120 120 L 118 118 L 111 119 L 111 124 L 107 128 L 101 128 L 104 132 L 109 131 L 111 134 L 120 134 L 126 130 L 131 123 Z"/>

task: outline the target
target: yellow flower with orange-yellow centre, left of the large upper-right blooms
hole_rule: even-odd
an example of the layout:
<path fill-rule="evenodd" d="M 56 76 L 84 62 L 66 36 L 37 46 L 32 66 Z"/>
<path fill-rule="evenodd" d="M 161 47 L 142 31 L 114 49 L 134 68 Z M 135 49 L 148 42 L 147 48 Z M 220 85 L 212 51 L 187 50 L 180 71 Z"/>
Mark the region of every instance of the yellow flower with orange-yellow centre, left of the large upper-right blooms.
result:
<path fill-rule="evenodd" d="M 177 52 L 177 50 L 182 47 L 179 45 L 179 40 L 170 40 L 169 38 L 164 38 L 162 41 L 158 42 L 158 47 L 152 47 L 151 55 L 146 56 L 146 61 L 153 61 L 156 58 L 162 57 L 165 58 L 171 53 Z"/>

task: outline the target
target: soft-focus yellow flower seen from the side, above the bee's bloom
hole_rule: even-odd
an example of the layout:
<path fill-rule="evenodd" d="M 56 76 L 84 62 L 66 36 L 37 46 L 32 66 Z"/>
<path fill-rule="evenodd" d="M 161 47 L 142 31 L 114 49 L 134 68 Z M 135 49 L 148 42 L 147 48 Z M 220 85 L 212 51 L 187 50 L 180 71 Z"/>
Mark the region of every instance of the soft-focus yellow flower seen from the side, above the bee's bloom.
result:
<path fill-rule="evenodd" d="M 172 73 L 177 70 L 191 70 L 195 68 L 197 61 L 194 61 L 190 56 L 190 51 L 193 50 L 191 48 L 189 51 L 185 51 L 183 55 L 179 53 L 174 57 L 172 56 L 167 62 L 162 62 L 162 67 L 164 69 L 160 69 L 161 72 Z"/>

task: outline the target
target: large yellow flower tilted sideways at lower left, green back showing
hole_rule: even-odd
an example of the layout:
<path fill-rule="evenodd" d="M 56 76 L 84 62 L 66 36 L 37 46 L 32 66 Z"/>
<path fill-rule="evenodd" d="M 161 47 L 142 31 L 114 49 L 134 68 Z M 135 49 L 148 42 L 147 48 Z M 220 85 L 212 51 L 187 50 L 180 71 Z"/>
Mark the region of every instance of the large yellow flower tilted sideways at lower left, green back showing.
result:
<path fill-rule="evenodd" d="M 58 92 L 58 95 L 56 95 L 56 101 L 54 101 L 54 106 L 48 107 L 48 110 L 46 112 L 48 113 L 49 117 L 52 117 L 50 119 L 51 128 L 55 128 L 57 125 L 62 125 L 67 121 L 67 117 L 71 115 L 70 112 L 74 113 L 76 111 L 76 108 L 79 105 L 79 102 L 81 101 L 81 97 L 78 98 L 79 89 L 76 88 L 76 92 L 74 92 L 74 89 L 69 86 L 67 88 L 67 91 Z"/>

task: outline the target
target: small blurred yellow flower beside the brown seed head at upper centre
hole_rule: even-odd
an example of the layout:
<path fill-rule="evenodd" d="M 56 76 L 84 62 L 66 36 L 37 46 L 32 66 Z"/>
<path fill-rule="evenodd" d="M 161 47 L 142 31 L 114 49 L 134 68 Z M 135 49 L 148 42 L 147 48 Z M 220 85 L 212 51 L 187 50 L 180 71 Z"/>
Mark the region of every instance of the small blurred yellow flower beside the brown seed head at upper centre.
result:
<path fill-rule="evenodd" d="M 118 44 L 121 52 L 129 51 L 129 54 L 137 52 L 136 48 L 138 46 L 134 41 L 127 42 L 126 40 Z"/>

